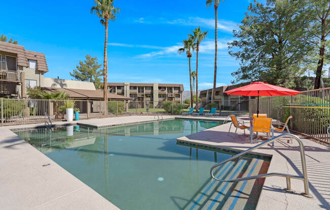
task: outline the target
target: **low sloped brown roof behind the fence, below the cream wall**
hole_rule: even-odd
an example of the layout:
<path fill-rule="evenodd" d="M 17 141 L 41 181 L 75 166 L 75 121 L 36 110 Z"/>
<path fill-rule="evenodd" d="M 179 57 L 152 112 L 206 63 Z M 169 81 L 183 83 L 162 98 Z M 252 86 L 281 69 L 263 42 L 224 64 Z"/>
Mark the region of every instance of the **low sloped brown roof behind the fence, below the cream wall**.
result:
<path fill-rule="evenodd" d="M 43 87 L 45 91 L 60 92 L 64 91 L 71 98 L 85 98 L 85 99 L 103 99 L 103 90 L 83 90 L 62 87 Z M 132 98 L 115 93 L 108 92 L 109 99 L 130 100 Z"/>

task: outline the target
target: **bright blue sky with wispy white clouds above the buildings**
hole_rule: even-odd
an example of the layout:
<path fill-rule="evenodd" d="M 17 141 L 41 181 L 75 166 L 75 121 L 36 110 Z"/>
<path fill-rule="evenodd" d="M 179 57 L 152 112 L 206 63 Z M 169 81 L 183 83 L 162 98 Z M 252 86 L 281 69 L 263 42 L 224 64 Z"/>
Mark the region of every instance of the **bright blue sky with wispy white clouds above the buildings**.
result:
<path fill-rule="evenodd" d="M 192 29 L 209 30 L 199 53 L 199 89 L 211 88 L 214 72 L 214 8 L 205 0 L 115 1 L 121 9 L 109 24 L 108 82 L 183 83 L 189 89 L 188 59 L 177 49 Z M 104 26 L 90 14 L 94 1 L 5 1 L 0 33 L 13 37 L 25 49 L 46 55 L 46 77 L 71 79 L 86 54 L 103 64 Z M 228 55 L 249 1 L 225 1 L 218 8 L 218 85 L 230 84 L 239 64 Z M 195 69 L 196 54 L 192 57 Z"/>

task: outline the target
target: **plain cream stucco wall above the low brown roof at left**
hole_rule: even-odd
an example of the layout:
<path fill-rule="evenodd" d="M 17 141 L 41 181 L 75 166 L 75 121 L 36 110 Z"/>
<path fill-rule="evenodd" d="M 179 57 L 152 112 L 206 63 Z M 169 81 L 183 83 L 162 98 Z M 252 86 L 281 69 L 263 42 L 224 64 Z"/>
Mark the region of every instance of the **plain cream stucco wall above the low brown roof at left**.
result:
<path fill-rule="evenodd" d="M 50 78 L 50 77 L 44 77 L 44 84 L 42 86 L 43 87 L 73 88 L 73 89 L 83 89 L 83 90 L 96 90 L 93 82 L 83 82 L 83 81 L 67 80 L 67 79 L 56 79 L 56 78 Z"/>

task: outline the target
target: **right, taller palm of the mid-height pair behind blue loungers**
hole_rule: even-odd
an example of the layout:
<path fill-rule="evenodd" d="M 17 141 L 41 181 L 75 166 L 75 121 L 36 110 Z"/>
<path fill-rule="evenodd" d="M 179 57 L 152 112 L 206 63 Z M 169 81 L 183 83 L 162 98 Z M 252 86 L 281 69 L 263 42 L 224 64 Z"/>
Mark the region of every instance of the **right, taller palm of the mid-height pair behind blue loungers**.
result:
<path fill-rule="evenodd" d="M 198 51 L 199 51 L 199 44 L 202 40 L 204 40 L 209 31 L 201 31 L 200 26 L 195 28 L 194 31 L 191 31 L 192 34 L 189 36 L 196 41 L 196 112 L 198 112 Z"/>

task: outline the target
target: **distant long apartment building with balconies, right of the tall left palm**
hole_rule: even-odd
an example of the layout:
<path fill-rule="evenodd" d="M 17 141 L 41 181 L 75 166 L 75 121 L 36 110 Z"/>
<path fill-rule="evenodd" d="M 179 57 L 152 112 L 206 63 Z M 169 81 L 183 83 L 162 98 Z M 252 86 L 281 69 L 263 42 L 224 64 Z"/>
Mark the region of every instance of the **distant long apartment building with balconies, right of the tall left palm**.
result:
<path fill-rule="evenodd" d="M 184 89 L 183 84 L 110 82 L 108 91 L 137 101 L 150 101 L 156 107 L 158 102 L 166 100 L 182 102 Z"/>

